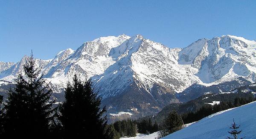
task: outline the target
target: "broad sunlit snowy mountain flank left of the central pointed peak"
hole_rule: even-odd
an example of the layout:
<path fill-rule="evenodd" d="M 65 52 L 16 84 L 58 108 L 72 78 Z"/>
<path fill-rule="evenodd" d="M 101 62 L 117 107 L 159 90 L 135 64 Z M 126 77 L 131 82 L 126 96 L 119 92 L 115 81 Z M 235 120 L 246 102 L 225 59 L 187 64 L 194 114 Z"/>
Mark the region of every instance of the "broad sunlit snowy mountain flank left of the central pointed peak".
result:
<path fill-rule="evenodd" d="M 55 92 L 58 92 L 58 89 L 61 86 L 63 88 L 75 74 L 81 80 L 100 75 L 115 63 L 113 58 L 109 56 L 110 50 L 128 38 L 130 37 L 126 35 L 101 37 L 91 42 L 85 42 L 76 51 L 71 49 L 61 51 L 53 59 L 54 64 L 47 65 L 47 70 L 44 70 L 44 77 L 53 83 Z M 61 59 L 58 58 L 60 56 Z M 55 59 L 57 59 L 56 62 Z"/>

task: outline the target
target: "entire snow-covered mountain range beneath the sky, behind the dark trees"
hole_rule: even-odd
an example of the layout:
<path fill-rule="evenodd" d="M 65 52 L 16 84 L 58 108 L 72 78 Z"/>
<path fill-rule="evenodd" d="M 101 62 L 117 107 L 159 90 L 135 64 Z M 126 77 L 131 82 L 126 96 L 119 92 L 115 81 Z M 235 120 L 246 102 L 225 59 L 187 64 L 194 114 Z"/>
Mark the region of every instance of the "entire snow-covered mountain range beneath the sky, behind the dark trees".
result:
<path fill-rule="evenodd" d="M 26 56 L 16 64 L 0 63 L 0 80 L 12 82 L 23 72 L 25 60 Z M 55 93 L 77 74 L 93 80 L 109 113 L 143 116 L 179 102 L 180 94 L 189 96 L 186 90 L 192 86 L 236 81 L 224 90 L 228 91 L 244 80 L 255 82 L 256 42 L 224 35 L 169 48 L 141 35 L 108 36 L 85 42 L 77 50 L 63 50 L 50 60 L 37 59 L 37 66 Z"/>

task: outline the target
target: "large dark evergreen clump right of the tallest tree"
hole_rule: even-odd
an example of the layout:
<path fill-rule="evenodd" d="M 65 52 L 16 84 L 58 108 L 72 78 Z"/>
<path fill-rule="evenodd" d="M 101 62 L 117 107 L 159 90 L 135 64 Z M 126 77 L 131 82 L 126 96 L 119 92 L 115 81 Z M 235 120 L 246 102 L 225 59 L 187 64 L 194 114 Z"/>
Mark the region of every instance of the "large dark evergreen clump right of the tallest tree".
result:
<path fill-rule="evenodd" d="M 67 83 L 65 101 L 59 107 L 59 120 L 63 125 L 64 138 L 86 136 L 88 139 L 105 139 L 106 112 L 100 109 L 101 98 L 93 92 L 92 82 L 73 77 L 73 84 Z"/>

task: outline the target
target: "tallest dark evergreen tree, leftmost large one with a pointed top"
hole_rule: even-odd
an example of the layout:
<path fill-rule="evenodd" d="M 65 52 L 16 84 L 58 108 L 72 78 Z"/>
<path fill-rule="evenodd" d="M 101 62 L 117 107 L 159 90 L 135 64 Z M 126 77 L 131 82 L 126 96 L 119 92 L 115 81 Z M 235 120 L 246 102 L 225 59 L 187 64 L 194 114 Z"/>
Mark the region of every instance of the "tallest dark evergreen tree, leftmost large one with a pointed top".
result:
<path fill-rule="evenodd" d="M 16 86 L 9 89 L 4 105 L 5 133 L 21 138 L 45 137 L 49 135 L 52 121 L 51 89 L 40 76 L 40 69 L 35 67 L 35 59 L 27 58 L 23 65 L 24 76 L 15 79 Z"/>

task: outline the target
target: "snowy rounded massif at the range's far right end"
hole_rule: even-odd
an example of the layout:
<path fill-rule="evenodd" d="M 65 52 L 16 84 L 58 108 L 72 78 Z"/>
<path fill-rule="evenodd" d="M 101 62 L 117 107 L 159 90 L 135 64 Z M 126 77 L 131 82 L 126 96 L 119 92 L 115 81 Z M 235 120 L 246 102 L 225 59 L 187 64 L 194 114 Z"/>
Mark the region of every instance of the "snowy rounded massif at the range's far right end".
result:
<path fill-rule="evenodd" d="M 199 39 L 179 53 L 179 64 L 189 64 L 199 71 L 203 83 L 221 83 L 244 77 L 256 81 L 256 42 L 224 35 Z"/>

